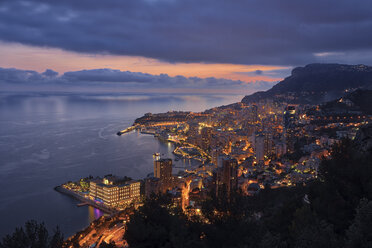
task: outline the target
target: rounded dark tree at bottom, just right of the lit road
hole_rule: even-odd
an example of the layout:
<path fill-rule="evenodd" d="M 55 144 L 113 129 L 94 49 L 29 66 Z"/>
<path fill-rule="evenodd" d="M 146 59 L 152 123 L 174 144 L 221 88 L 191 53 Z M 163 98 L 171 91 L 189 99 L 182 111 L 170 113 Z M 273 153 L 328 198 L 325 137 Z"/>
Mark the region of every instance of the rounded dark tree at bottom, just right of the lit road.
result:
<path fill-rule="evenodd" d="M 130 247 L 201 247 L 197 228 L 170 197 L 153 195 L 130 216 L 124 239 Z"/>

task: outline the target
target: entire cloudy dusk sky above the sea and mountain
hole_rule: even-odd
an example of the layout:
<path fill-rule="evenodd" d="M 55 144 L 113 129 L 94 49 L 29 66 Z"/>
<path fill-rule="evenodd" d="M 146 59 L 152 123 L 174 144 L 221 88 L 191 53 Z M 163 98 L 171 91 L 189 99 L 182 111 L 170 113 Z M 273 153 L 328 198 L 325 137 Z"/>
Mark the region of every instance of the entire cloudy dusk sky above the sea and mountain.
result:
<path fill-rule="evenodd" d="M 372 64 L 371 30 L 368 0 L 1 0 L 0 84 L 249 94 Z"/>

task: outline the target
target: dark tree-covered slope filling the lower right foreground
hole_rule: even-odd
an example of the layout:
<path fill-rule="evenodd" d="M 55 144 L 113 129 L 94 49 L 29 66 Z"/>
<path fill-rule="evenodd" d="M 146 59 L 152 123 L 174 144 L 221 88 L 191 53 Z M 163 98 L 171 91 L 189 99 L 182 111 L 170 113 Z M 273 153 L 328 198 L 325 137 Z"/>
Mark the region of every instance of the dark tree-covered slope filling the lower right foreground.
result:
<path fill-rule="evenodd" d="M 372 247 L 371 159 L 345 140 L 317 180 L 254 197 L 211 194 L 203 219 L 156 196 L 131 217 L 125 238 L 131 247 Z"/>

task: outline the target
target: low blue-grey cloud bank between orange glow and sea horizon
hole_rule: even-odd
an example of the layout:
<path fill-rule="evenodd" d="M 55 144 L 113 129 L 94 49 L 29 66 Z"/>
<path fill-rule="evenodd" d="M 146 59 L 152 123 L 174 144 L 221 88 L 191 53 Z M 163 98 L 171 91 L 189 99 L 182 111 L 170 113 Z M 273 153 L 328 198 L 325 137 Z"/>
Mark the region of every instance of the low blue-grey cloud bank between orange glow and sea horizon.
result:
<path fill-rule="evenodd" d="M 275 82 L 243 82 L 223 78 L 170 77 L 167 74 L 152 75 L 141 72 L 120 71 L 113 69 L 93 69 L 57 72 L 47 69 L 43 73 L 14 68 L 0 68 L 0 83 L 13 85 L 69 86 L 69 87 L 103 87 L 107 89 L 203 89 L 203 90 L 239 90 L 240 93 L 266 90 Z"/>

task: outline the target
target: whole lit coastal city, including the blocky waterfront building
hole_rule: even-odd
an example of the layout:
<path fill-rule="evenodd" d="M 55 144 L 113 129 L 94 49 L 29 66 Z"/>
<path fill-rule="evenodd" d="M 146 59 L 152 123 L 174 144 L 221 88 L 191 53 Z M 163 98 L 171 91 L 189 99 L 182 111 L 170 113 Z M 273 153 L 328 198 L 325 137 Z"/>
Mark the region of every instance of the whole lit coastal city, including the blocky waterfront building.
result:
<path fill-rule="evenodd" d="M 148 113 L 136 120 L 136 128 L 175 143 L 176 155 L 197 159 L 199 165 L 174 174 L 173 161 L 154 154 L 153 176 L 92 179 L 88 197 L 124 209 L 153 193 L 169 193 L 175 204 L 196 213 L 210 194 L 253 195 L 265 187 L 306 184 L 317 177 L 321 159 L 329 156 L 332 145 L 355 137 L 370 120 L 353 114 L 362 117 L 270 100 L 202 113 Z"/>

